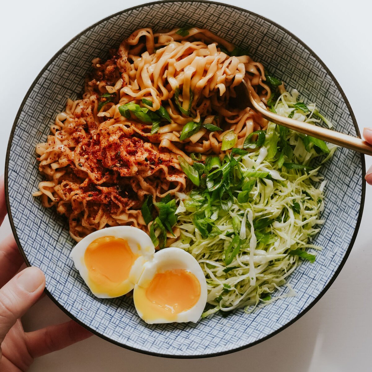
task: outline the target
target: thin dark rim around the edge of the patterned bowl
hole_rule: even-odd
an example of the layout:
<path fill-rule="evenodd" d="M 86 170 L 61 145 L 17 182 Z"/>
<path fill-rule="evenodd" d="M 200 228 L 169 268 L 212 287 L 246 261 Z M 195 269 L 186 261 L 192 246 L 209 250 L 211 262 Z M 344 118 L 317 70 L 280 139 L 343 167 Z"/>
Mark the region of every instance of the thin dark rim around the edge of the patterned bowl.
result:
<path fill-rule="evenodd" d="M 356 118 L 355 118 L 355 115 L 353 113 L 353 110 L 350 106 L 350 103 L 349 103 L 349 100 L 347 99 L 343 89 L 341 88 L 339 82 L 336 80 L 336 78 L 334 77 L 334 75 L 331 73 L 331 71 L 329 70 L 329 68 L 325 65 L 325 63 L 318 57 L 318 55 L 310 48 L 308 47 L 307 44 L 305 44 L 301 39 L 299 39 L 296 35 L 294 35 L 294 33 L 292 33 L 291 31 L 288 31 L 286 28 L 284 28 L 283 26 L 279 25 L 278 23 L 272 21 L 271 19 L 267 18 L 267 17 L 264 17 L 262 15 L 259 15 L 255 12 L 251 12 L 250 10 L 248 9 L 244 9 L 242 7 L 238 7 L 238 6 L 235 6 L 235 5 L 231 5 L 231 4 L 226 4 L 226 3 L 223 3 L 223 2 L 219 2 L 219 1 L 209 1 L 209 0 L 160 0 L 160 1 L 151 1 L 151 2 L 148 2 L 148 3 L 142 3 L 142 4 L 139 4 L 139 5 L 136 5 L 136 6 L 133 6 L 133 7 L 130 7 L 130 8 L 127 8 L 127 9 L 124 9 L 124 10 L 121 10 L 117 13 L 114 13 L 112 15 L 109 15 L 99 21 L 97 21 L 96 23 L 94 23 L 93 25 L 85 28 L 83 31 L 81 31 L 80 33 L 78 33 L 76 36 L 74 36 L 74 38 L 72 38 L 70 41 L 68 41 L 62 48 L 60 48 L 54 55 L 53 57 L 47 62 L 47 64 L 42 68 L 42 70 L 40 71 L 40 73 L 36 76 L 35 80 L 33 81 L 33 83 L 31 84 L 30 88 L 28 89 L 25 97 L 23 98 L 22 100 L 22 103 L 20 105 L 20 108 L 17 112 L 17 115 L 16 115 L 16 118 L 13 122 L 13 126 L 12 126 L 12 130 L 10 132 L 10 136 L 9 136 L 9 142 L 8 142 L 8 147 L 7 147 L 7 151 L 6 151 L 6 161 L 5 161 L 5 171 L 4 171 L 4 184 L 5 184 L 5 198 L 6 198 L 6 207 L 7 207 L 7 212 L 8 212 L 8 217 L 9 217 L 9 222 L 10 222 L 10 225 L 11 225 L 11 228 L 12 228 L 12 232 L 13 232 L 13 235 L 14 235 L 14 238 L 16 240 L 16 243 L 17 243 L 17 246 L 19 248 L 19 251 L 23 257 L 23 259 L 25 260 L 27 266 L 31 266 L 31 264 L 29 263 L 27 257 L 26 257 L 26 254 L 25 252 L 23 251 L 23 248 L 22 248 L 22 245 L 20 244 L 20 241 L 19 241 L 19 238 L 18 238 L 18 235 L 17 235 L 17 231 L 16 231 L 16 227 L 14 225 L 14 222 L 13 222 L 13 217 L 12 217 L 12 211 L 10 209 L 10 202 L 9 202 L 9 183 L 8 183 L 8 168 L 9 168 L 9 158 L 10 158 L 10 148 L 11 148 L 11 145 L 12 145 L 12 141 L 13 141 L 13 136 L 14 136 L 14 133 L 15 133 L 15 129 L 16 129 L 16 126 L 17 126 L 17 122 L 19 120 L 19 117 L 20 117 L 20 114 L 23 110 L 23 106 L 25 105 L 25 102 L 26 100 L 28 99 L 29 97 L 29 94 L 32 92 L 33 88 L 35 87 L 36 83 L 38 82 L 38 80 L 40 79 L 40 77 L 42 76 L 42 74 L 44 74 L 44 72 L 47 70 L 47 68 L 49 67 L 49 65 L 54 62 L 54 60 L 56 58 L 58 58 L 61 53 L 68 47 L 70 46 L 74 41 L 76 41 L 78 38 L 80 38 L 80 36 L 84 35 L 84 33 L 86 33 L 87 31 L 90 31 L 91 29 L 93 29 L 94 27 L 96 27 L 97 25 L 99 25 L 100 23 L 106 21 L 106 20 L 109 20 L 111 19 L 112 17 L 115 17 L 115 16 L 118 16 L 122 13 L 125 13 L 125 12 L 128 12 L 130 10 L 137 10 L 137 9 L 140 9 L 140 8 L 143 8 L 145 6 L 148 6 L 150 4 L 164 4 L 164 3 L 177 3 L 177 2 L 180 2 L 180 1 L 183 1 L 183 2 L 187 2 L 187 3 L 195 3 L 195 2 L 198 2 L 198 3 L 206 3 L 206 4 L 215 4 L 215 5 L 222 5 L 222 6 L 226 6 L 226 7 L 229 7 L 231 9 L 235 9 L 235 10 L 239 10 L 241 12 L 248 12 L 266 22 L 269 22 L 271 23 L 272 25 L 276 26 L 277 28 L 281 29 L 282 31 L 284 31 L 285 33 L 287 33 L 288 35 L 290 35 L 292 38 L 294 38 L 299 44 L 301 44 L 303 47 L 305 47 L 310 53 L 311 55 L 320 63 L 320 65 L 324 68 L 325 71 L 327 71 L 328 75 L 332 78 L 332 80 L 334 81 L 334 83 L 336 84 L 336 87 L 337 89 L 339 90 L 339 92 L 341 93 L 341 96 L 342 98 L 344 99 L 345 103 L 346 103 L 346 106 L 347 106 L 347 109 L 349 110 L 350 112 L 350 116 L 352 118 L 352 121 L 353 121 L 353 124 L 354 124 L 354 127 L 355 127 L 355 131 L 356 131 L 356 134 L 357 136 L 360 138 L 360 131 L 359 131 L 359 128 L 358 128 L 358 125 L 357 125 L 357 122 L 356 122 Z M 305 308 L 304 310 L 302 310 L 295 318 L 293 318 L 291 321 L 289 321 L 288 323 L 286 323 L 285 325 L 283 325 L 282 327 L 278 328 L 276 331 L 268 334 L 267 336 L 263 337 L 262 339 L 259 339 L 259 340 L 256 340 L 256 341 L 253 341 L 251 343 L 248 343 L 244 346 L 239 346 L 239 347 L 236 347 L 234 349 L 231 349 L 231 350 L 225 350 L 225 351 L 222 351 L 222 352 L 217 352 L 217 353 L 209 353 L 209 354 L 201 354 L 201 355 L 173 355 L 173 354 L 162 354 L 162 353 L 156 353 L 156 352 L 151 352 L 151 351 L 147 351 L 147 350 L 142 350 L 142 349 L 137 349 L 135 347 L 132 347 L 132 346 L 128 346 L 128 345 L 125 345 L 125 344 L 122 344 L 118 341 L 115 341 L 115 340 L 112 340 L 110 339 L 109 337 L 107 336 L 104 336 L 103 334 L 100 334 L 98 331 L 94 330 L 93 328 L 90 328 L 88 325 L 84 324 L 82 321 L 78 320 L 74 315 L 72 315 L 68 310 L 66 310 L 58 301 L 57 299 L 54 298 L 54 296 L 51 294 L 51 292 L 49 292 L 47 289 L 44 290 L 44 292 L 49 296 L 49 298 L 65 313 L 67 314 L 70 318 L 72 318 L 74 321 L 76 321 L 78 324 L 80 324 L 82 327 L 86 328 L 87 330 L 89 330 L 90 332 L 92 332 L 93 334 L 95 334 L 96 336 L 99 336 L 101 337 L 102 339 L 106 340 L 106 341 L 109 341 L 115 345 L 118 345 L 118 346 L 121 346 L 121 347 L 124 347 L 125 349 L 128 349 L 128 350 L 132 350 L 132 351 L 135 351 L 135 352 L 139 352 L 139 353 L 142 353 L 142 354 L 147 354 L 147 355 L 151 355 L 151 356 L 158 356 L 158 357 L 167 357 L 167 358 L 173 358 L 173 359 L 198 359 L 198 358 L 206 358 L 206 357 L 215 357 L 215 356 L 222 356 L 222 355 L 227 355 L 227 354 L 230 354 L 230 353 L 234 353 L 234 352 L 237 352 L 237 351 L 240 351 L 240 350 L 244 350 L 244 349 L 247 349 L 248 347 L 251 347 L 251 346 L 254 346 L 256 344 L 259 344 L 267 339 L 269 339 L 270 337 L 273 337 L 275 336 L 276 334 L 278 334 L 279 332 L 285 330 L 285 328 L 289 327 L 291 324 L 295 323 L 295 321 L 297 321 L 299 318 L 301 318 L 303 315 L 305 315 L 320 299 L 321 297 L 323 297 L 323 295 L 325 294 L 325 292 L 328 291 L 328 289 L 330 288 L 330 286 L 332 285 L 332 283 L 334 282 L 334 280 L 337 278 L 337 276 L 339 275 L 341 269 L 343 268 L 347 258 L 349 257 L 349 254 L 352 250 L 352 247 L 355 243 L 355 239 L 356 239 L 356 236 L 357 236 L 357 233 L 359 231 L 359 227 L 360 227 L 360 222 L 362 220 L 362 215 L 363 215 L 363 208 L 364 208 L 364 202 L 365 202 L 365 187 L 366 187 L 366 181 L 365 181 L 365 174 L 366 174 L 366 166 L 365 166 L 365 157 L 363 154 L 360 154 L 360 160 L 362 162 L 362 195 L 361 195 L 361 200 L 360 200 L 360 208 L 359 208 L 359 214 L 358 214 L 358 218 L 357 218 L 357 222 L 356 222 L 356 226 L 355 226 L 355 231 L 354 231 L 354 234 L 350 240 L 350 244 L 349 244 L 349 247 L 347 248 L 347 251 L 345 253 L 345 256 L 343 257 L 341 263 L 339 264 L 339 267 L 337 267 L 337 270 L 334 272 L 333 276 L 331 277 L 330 281 L 327 283 L 327 285 L 323 288 L 323 290 L 320 292 L 320 294 L 318 294 L 318 296 L 310 303 L 310 305 L 308 305 L 307 308 Z"/>

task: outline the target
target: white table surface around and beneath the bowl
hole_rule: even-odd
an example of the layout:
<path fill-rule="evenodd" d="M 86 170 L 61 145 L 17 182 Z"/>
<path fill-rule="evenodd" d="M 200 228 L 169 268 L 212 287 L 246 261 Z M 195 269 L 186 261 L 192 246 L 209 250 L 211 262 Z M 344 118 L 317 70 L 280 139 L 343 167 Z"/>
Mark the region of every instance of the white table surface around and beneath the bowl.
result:
<path fill-rule="evenodd" d="M 92 23 L 144 1 L 4 1 L 0 22 L 3 168 L 10 129 L 32 81 L 66 42 Z M 354 110 L 359 128 L 372 126 L 371 3 L 355 1 L 244 1 L 312 48 L 333 72 Z M 367 169 L 372 158 L 366 157 Z M 93 336 L 35 360 L 30 371 L 370 371 L 372 320 L 372 186 L 367 185 L 359 234 L 340 275 L 300 320 L 250 349 L 226 356 L 177 360 L 135 353 Z M 10 233 L 4 222 L 0 236 Z M 24 318 L 28 330 L 68 320 L 45 297 Z"/>

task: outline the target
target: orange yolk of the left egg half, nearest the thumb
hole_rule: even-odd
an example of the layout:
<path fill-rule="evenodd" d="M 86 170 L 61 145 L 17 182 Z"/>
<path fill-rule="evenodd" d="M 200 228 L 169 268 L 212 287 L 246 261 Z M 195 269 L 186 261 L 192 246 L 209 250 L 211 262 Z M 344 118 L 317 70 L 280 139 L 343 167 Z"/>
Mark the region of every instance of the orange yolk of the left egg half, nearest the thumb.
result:
<path fill-rule="evenodd" d="M 133 286 L 127 279 L 137 257 L 122 238 L 105 236 L 92 241 L 84 253 L 89 287 L 112 297 L 128 293 Z"/>

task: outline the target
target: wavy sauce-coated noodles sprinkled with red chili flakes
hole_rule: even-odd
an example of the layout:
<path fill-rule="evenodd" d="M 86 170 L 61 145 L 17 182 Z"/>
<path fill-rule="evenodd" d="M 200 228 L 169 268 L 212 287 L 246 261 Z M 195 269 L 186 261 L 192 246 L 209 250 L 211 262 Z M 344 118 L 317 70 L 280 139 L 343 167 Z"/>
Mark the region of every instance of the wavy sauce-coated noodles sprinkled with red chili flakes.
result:
<path fill-rule="evenodd" d="M 106 226 L 129 224 L 148 232 L 140 209 L 145 196 L 156 201 L 191 187 L 178 155 L 192 164 L 191 152 L 221 154 L 222 138 L 231 130 L 237 134 L 236 146 L 243 147 L 250 133 L 267 125 L 249 108 L 228 106 L 234 86 L 243 79 L 257 101 L 267 102 L 271 91 L 262 64 L 248 56 L 230 57 L 220 45 L 229 51 L 234 45 L 208 30 L 191 28 L 186 37 L 176 32 L 140 29 L 117 51 L 111 50 L 109 60 L 95 58 L 83 99 L 68 99 L 47 142 L 36 146 L 46 180 L 34 195 L 68 218 L 77 241 Z M 177 89 L 189 115 L 175 103 Z M 112 94 L 111 99 L 102 96 L 105 93 Z M 153 107 L 144 105 L 143 98 Z M 162 122 L 151 134 L 151 123 L 121 115 L 119 106 L 128 102 L 153 111 L 163 106 L 171 123 Z M 221 131 L 202 128 L 180 141 L 190 121 L 214 124 Z"/>

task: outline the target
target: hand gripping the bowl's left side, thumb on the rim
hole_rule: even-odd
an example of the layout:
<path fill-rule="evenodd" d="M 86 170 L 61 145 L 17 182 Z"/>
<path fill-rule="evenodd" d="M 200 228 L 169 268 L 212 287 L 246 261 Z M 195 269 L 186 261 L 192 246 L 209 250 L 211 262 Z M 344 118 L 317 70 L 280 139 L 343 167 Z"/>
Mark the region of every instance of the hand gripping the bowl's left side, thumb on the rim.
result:
<path fill-rule="evenodd" d="M 4 179 L 0 179 L 0 225 L 6 216 Z M 44 291 L 45 277 L 37 267 L 17 273 L 23 263 L 10 236 L 0 243 L 0 371 L 27 371 L 33 359 L 63 349 L 92 333 L 73 320 L 25 332 L 20 317 Z M 17 273 L 17 274 L 16 274 Z M 16 274 L 16 275 L 15 275 Z"/>

